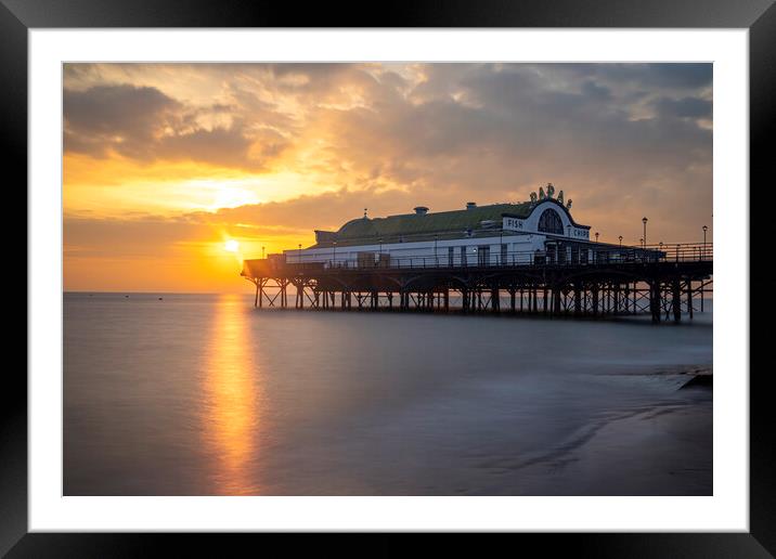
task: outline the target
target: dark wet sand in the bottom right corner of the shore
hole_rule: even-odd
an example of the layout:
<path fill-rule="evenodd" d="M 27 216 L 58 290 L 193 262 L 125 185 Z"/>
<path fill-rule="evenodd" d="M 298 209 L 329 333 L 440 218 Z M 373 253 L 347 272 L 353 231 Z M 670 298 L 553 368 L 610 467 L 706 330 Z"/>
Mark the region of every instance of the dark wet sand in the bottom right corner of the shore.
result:
<path fill-rule="evenodd" d="M 712 495 L 712 368 L 651 375 L 683 400 L 615 412 L 515 468 L 530 495 Z M 506 476 L 506 477 L 512 477 Z"/>

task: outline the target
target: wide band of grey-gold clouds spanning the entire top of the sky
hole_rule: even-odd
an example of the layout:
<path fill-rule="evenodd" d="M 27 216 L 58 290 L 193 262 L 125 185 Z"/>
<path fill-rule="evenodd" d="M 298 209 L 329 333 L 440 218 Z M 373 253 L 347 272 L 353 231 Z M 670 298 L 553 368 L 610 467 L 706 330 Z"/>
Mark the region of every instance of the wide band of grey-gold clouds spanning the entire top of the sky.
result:
<path fill-rule="evenodd" d="M 183 101 L 163 86 L 82 83 L 176 69 L 192 92 L 221 86 Z M 348 187 L 473 188 L 484 162 L 489 185 L 604 157 L 630 174 L 634 154 L 647 172 L 675 169 L 711 138 L 708 126 L 675 121 L 710 118 L 709 64 L 102 65 L 66 75 L 67 150 L 326 173 Z"/>

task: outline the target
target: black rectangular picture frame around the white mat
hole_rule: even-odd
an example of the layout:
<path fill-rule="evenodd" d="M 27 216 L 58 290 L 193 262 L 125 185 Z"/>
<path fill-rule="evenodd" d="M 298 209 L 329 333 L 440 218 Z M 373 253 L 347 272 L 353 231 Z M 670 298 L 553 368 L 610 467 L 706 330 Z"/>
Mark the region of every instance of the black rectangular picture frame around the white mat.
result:
<path fill-rule="evenodd" d="M 774 0 L 432 0 L 358 6 L 283 2 L 161 1 L 161 0 L 0 0 L 0 114 L 2 151 L 8 184 L 27 183 L 27 31 L 30 28 L 65 27 L 620 27 L 620 28 L 748 28 L 750 32 L 750 182 L 761 191 L 742 185 L 741 195 L 764 194 L 773 185 L 774 161 L 768 140 L 776 128 L 776 6 Z M 18 190 L 18 188 L 17 188 Z M 24 202 L 26 205 L 26 200 Z M 755 213 L 765 205 L 750 205 Z M 750 256 L 766 250 L 764 216 L 750 216 Z M 25 257 L 28 258 L 28 255 Z M 752 268 L 758 259 L 750 259 Z M 760 264 L 764 265 L 764 264 Z M 753 273 L 752 269 L 750 273 Z M 752 275 L 752 296 L 773 294 L 773 280 Z M 26 289 L 26 287 L 25 287 Z M 29 297 L 35 294 L 27 292 Z M 29 304 L 29 303 L 28 303 Z M 749 301 L 742 302 L 749 304 Z M 760 353 L 767 330 L 765 307 L 750 311 L 750 353 Z M 727 325 L 746 327 L 747 325 Z M 717 327 L 726 327 L 721 325 Z M 20 328 L 21 329 L 21 328 Z M 756 343 L 760 341 L 761 343 Z M 747 372 L 740 372 L 746 374 Z M 520 549 L 527 543 L 541 546 L 542 554 L 558 550 L 596 557 L 772 557 L 776 554 L 776 425 L 768 390 L 769 367 L 752 370 L 750 381 L 750 532 L 749 533 L 638 533 L 638 534 L 514 534 L 484 543 L 466 540 L 478 555 L 491 545 Z M 153 555 L 163 545 L 176 546 L 176 555 L 191 549 L 196 555 L 230 555 L 236 542 L 263 537 L 296 550 L 298 538 L 269 534 L 51 534 L 27 533 L 27 381 L 21 367 L 5 367 L 0 390 L 0 554 L 9 557 L 111 557 Z M 515 541 L 514 538 L 517 538 Z M 336 546 L 340 538 L 313 536 L 315 552 Z M 450 538 L 461 549 L 460 537 Z M 310 537 L 302 538 L 308 545 Z M 336 543 L 335 543 L 336 542 Z M 384 534 L 373 543 L 360 544 L 366 555 L 386 555 L 414 547 L 415 536 Z M 289 546 L 290 547 L 287 547 Z M 225 546 L 230 547 L 225 547 Z M 262 543 L 266 545 L 266 543 Z M 365 545 L 365 547 L 364 547 Z M 465 547 L 464 545 L 464 547 Z M 323 546 L 323 547 L 321 547 Z"/>

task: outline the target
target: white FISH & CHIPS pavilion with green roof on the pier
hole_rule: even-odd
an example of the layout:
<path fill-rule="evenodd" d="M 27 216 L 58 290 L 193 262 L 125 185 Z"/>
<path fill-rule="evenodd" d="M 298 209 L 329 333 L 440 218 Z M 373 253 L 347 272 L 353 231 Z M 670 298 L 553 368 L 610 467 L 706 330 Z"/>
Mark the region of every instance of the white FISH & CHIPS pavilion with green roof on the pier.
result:
<path fill-rule="evenodd" d="M 543 190 L 531 202 L 477 206 L 467 203 L 453 211 L 431 212 L 418 206 L 413 213 L 348 221 L 338 231 L 315 231 L 316 243 L 285 250 L 285 262 L 321 262 L 328 266 L 467 266 L 523 263 L 586 263 L 596 247 L 590 226 L 571 217 L 571 200 L 562 192 L 553 198 Z"/>

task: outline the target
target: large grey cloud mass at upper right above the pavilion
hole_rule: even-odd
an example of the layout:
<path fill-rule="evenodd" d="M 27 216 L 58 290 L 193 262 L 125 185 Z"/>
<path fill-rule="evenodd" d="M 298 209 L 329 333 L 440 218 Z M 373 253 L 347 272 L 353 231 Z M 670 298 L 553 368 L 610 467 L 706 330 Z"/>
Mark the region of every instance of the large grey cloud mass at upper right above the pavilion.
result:
<path fill-rule="evenodd" d="M 710 130 L 664 113 L 647 110 L 642 117 L 642 98 L 632 101 L 622 83 L 605 84 L 610 68 L 596 76 L 587 66 L 575 81 L 570 76 L 580 70 L 568 65 L 431 65 L 424 70 L 417 95 L 378 108 L 318 112 L 312 126 L 345 165 L 351 190 L 380 183 L 414 192 L 425 186 L 447 191 L 456 206 L 477 192 L 491 199 L 526 199 L 530 190 L 552 181 L 567 193 L 616 195 L 631 187 L 639 197 L 638 190 L 671 174 L 688 184 L 686 169 L 710 161 Z M 642 76 L 638 88 L 646 79 Z M 657 91 L 671 99 L 664 87 Z"/>

